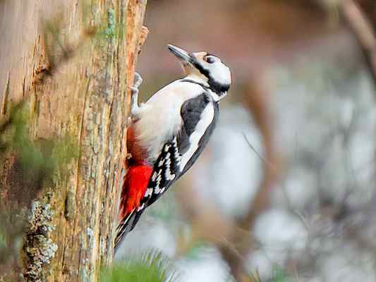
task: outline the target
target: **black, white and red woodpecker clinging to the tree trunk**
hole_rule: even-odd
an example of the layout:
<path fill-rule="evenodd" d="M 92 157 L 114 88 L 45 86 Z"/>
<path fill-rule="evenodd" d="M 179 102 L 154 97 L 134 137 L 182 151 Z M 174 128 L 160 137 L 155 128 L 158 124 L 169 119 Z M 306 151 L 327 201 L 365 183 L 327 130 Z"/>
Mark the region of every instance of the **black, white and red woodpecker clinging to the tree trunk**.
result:
<path fill-rule="evenodd" d="M 140 75 L 136 74 L 132 87 L 127 133 L 131 157 L 123 177 L 115 247 L 142 212 L 198 159 L 214 130 L 219 101 L 231 84 L 230 70 L 217 56 L 188 54 L 172 45 L 169 51 L 181 61 L 185 78 L 166 85 L 140 106 Z"/>

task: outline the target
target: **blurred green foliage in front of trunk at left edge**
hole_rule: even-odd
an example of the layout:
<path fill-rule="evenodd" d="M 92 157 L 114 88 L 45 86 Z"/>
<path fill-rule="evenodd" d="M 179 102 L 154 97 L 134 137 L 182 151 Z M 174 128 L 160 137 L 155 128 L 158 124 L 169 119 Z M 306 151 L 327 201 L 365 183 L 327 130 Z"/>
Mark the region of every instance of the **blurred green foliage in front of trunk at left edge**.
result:
<path fill-rule="evenodd" d="M 25 104 L 11 108 L 8 118 L 0 121 L 0 159 L 12 154 L 23 171 L 23 176 L 35 181 L 51 179 L 59 168 L 66 171 L 66 164 L 78 157 L 78 148 L 69 135 L 54 139 L 34 140 L 29 133 L 30 113 Z"/>

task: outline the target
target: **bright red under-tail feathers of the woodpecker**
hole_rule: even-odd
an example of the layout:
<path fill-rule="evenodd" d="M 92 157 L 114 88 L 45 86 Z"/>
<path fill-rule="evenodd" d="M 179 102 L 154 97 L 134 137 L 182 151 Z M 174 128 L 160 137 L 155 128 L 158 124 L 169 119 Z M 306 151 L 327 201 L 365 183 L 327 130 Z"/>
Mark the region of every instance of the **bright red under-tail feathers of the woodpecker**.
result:
<path fill-rule="evenodd" d="M 140 200 L 144 197 L 150 176 L 152 176 L 152 166 L 147 164 L 137 164 L 128 168 L 123 178 L 121 190 L 121 202 L 119 208 L 119 222 L 121 222 L 133 209 L 140 206 Z"/>

